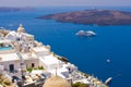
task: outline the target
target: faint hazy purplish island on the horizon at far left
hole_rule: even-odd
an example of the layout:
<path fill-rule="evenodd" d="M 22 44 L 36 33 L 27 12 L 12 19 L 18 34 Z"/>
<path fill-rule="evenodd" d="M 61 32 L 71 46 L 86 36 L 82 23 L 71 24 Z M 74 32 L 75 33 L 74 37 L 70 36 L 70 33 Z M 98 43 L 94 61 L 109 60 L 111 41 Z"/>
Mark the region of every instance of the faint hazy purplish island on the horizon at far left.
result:
<path fill-rule="evenodd" d="M 24 7 L 24 8 L 11 8 L 11 7 L 0 7 L 0 11 L 22 11 L 22 10 L 34 10 L 34 8 L 31 7 Z"/>

